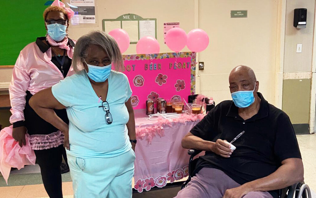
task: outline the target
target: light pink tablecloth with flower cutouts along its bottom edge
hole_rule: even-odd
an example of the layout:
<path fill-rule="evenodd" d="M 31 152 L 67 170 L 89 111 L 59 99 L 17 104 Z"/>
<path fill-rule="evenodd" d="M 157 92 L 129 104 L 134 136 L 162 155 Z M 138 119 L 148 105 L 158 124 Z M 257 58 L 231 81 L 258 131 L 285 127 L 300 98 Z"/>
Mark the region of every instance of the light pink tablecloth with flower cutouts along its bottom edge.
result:
<path fill-rule="evenodd" d="M 136 127 L 155 125 L 155 121 L 141 119 L 146 117 L 139 111 L 135 112 Z M 167 181 L 174 182 L 188 176 L 190 156 L 188 149 L 181 146 L 181 140 L 198 121 L 176 123 L 164 127 L 164 136 L 156 135 L 152 142 L 137 139 L 135 160 L 135 189 L 138 192 L 150 190 L 152 187 L 163 187 Z"/>

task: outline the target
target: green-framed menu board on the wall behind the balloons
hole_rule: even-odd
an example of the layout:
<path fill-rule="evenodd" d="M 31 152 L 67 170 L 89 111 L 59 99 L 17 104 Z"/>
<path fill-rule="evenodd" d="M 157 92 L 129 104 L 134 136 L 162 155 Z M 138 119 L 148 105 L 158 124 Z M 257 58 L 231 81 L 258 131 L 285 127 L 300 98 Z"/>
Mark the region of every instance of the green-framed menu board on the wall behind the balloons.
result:
<path fill-rule="evenodd" d="M 116 28 L 124 29 L 130 36 L 130 44 L 137 44 L 143 36 L 152 36 L 157 39 L 157 19 L 142 18 L 135 14 L 121 15 L 116 19 L 103 19 L 102 28 L 105 32 L 110 32 Z"/>

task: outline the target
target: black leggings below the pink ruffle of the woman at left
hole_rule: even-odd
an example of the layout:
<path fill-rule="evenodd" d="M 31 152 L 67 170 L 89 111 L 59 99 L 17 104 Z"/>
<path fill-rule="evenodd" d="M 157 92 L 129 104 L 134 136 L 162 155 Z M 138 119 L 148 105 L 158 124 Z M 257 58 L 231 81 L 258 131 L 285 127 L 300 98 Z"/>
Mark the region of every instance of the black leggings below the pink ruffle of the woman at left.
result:
<path fill-rule="evenodd" d="M 66 150 L 63 145 L 46 150 L 34 150 L 36 163 L 40 171 L 45 190 L 50 198 L 63 198 L 60 164 L 64 159 L 67 162 Z M 67 164 L 68 165 L 68 164 Z"/>

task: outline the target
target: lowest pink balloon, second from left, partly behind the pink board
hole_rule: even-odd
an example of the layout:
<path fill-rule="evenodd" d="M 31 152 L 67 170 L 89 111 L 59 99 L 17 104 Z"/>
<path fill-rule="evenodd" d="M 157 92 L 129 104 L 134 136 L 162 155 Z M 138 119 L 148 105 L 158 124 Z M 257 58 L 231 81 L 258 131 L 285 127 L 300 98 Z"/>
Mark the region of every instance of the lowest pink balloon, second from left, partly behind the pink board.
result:
<path fill-rule="evenodd" d="M 143 36 L 136 45 L 137 54 L 155 54 L 159 53 L 160 46 L 158 40 L 151 36 Z"/>

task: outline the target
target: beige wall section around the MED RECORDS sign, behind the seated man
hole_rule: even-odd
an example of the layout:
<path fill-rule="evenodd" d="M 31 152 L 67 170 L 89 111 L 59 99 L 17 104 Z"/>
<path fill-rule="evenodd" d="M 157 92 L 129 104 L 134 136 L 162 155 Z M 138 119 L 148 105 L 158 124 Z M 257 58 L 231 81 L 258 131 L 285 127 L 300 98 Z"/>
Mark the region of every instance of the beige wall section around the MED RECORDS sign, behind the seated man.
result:
<path fill-rule="evenodd" d="M 230 18 L 230 10 L 248 10 L 247 18 Z M 201 93 L 216 103 L 231 100 L 228 75 L 237 65 L 250 66 L 259 91 L 274 104 L 277 1 L 200 0 L 199 27 L 210 35 L 210 45 L 199 54 Z"/>

